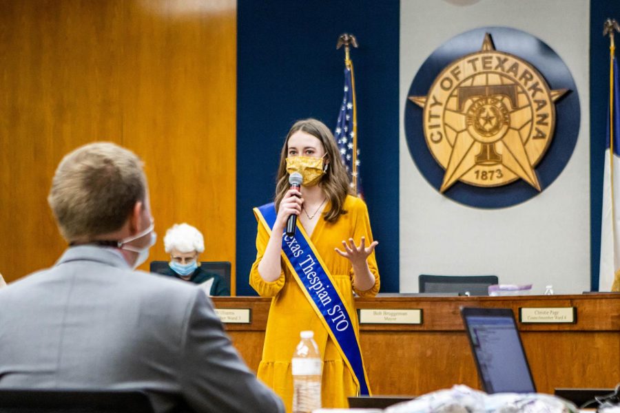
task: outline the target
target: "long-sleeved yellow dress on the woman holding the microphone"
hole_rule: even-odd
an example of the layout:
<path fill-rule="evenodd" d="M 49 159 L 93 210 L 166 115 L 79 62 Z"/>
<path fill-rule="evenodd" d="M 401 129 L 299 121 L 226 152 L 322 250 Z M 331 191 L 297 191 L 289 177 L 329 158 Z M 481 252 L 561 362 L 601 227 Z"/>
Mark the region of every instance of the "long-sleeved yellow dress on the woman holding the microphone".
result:
<path fill-rule="evenodd" d="M 328 208 L 329 204 L 324 211 Z M 359 244 L 362 236 L 366 238 L 368 246 L 373 242 L 373 235 L 366 204 L 360 198 L 347 196 L 344 210 L 347 213 L 340 215 L 334 223 L 321 218 L 311 235 L 311 241 L 331 273 L 335 287 L 340 291 L 355 331 L 359 332 L 353 303 L 353 268 L 347 258 L 335 253 L 334 248 L 342 250 L 342 240 L 349 238 L 353 238 L 355 244 Z M 354 396 L 357 393 L 352 373 L 285 263 L 282 262 L 282 273 L 276 281 L 265 282 L 258 274 L 258 263 L 265 253 L 267 242 L 269 233 L 259 222 L 256 261 L 252 265 L 249 284 L 260 296 L 273 299 L 269 308 L 265 347 L 262 350 L 262 361 L 258 366 L 258 378 L 282 397 L 287 412 L 291 412 L 293 403 L 291 358 L 300 341 L 300 332 L 313 330 L 314 340 L 323 357 L 322 407 L 348 407 L 347 396 Z M 360 297 L 374 297 L 379 292 L 379 271 L 374 251 L 369 255 L 367 262 L 375 276 L 375 285 L 370 290 L 355 290 Z"/>

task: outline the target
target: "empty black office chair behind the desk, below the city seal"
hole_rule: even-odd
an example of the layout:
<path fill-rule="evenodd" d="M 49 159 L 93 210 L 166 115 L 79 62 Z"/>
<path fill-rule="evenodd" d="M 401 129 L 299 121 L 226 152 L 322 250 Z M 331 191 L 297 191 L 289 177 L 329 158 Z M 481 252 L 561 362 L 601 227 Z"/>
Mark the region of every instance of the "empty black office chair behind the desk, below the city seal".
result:
<path fill-rule="evenodd" d="M 420 293 L 488 295 L 488 286 L 498 284 L 497 275 L 426 275 L 418 277 Z"/>

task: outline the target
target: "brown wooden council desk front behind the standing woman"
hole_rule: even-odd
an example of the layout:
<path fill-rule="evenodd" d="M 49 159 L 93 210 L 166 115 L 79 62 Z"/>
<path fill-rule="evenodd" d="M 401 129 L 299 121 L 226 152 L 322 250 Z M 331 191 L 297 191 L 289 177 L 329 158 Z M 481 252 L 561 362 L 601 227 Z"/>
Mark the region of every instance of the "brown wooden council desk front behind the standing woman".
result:
<path fill-rule="evenodd" d="M 256 371 L 270 299 L 214 297 L 216 308 L 250 308 L 249 324 L 227 324 L 234 345 Z M 374 394 L 424 394 L 462 383 L 479 388 L 459 307 L 575 307 L 575 324 L 521 324 L 519 331 L 539 392 L 613 388 L 620 383 L 620 295 L 523 297 L 375 297 L 357 308 L 421 308 L 424 324 L 362 324 L 360 341 Z M 293 349 L 291 348 L 291 354 Z"/>

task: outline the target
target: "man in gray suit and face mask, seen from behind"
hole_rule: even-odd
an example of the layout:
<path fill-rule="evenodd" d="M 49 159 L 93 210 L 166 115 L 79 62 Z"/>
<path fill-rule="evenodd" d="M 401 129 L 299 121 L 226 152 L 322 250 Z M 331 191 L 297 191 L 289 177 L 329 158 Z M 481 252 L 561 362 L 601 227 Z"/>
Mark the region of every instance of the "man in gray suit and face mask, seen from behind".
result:
<path fill-rule="evenodd" d="M 48 202 L 70 248 L 0 291 L 0 388 L 138 388 L 156 412 L 284 412 L 202 290 L 134 271 L 156 240 L 134 153 L 76 149 Z"/>

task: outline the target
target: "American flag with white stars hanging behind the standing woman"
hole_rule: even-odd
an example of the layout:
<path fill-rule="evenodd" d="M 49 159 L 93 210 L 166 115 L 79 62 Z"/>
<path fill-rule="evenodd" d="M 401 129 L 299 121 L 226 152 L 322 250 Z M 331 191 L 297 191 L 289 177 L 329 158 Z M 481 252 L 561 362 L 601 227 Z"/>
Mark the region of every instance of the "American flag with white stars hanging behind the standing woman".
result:
<path fill-rule="evenodd" d="M 358 149 L 357 118 L 355 114 L 355 80 L 353 78 L 353 62 L 347 61 L 344 67 L 344 98 L 338 114 L 333 136 L 338 142 L 342 162 L 351 176 L 351 188 L 355 193 L 362 192 L 360 179 L 360 149 Z"/>

